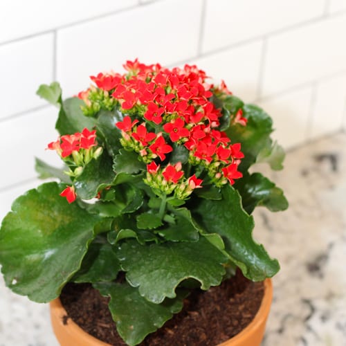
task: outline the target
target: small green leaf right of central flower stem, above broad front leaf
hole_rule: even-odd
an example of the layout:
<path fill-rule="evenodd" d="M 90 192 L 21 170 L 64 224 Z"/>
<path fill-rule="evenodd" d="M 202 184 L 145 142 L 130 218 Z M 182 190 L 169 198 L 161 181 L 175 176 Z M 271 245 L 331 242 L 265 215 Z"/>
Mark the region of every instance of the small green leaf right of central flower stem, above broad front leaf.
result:
<path fill-rule="evenodd" d="M 158 231 L 161 237 L 172 242 L 197 242 L 199 231 L 194 226 L 190 210 L 180 208 L 174 210 L 175 224 L 169 224 Z"/>

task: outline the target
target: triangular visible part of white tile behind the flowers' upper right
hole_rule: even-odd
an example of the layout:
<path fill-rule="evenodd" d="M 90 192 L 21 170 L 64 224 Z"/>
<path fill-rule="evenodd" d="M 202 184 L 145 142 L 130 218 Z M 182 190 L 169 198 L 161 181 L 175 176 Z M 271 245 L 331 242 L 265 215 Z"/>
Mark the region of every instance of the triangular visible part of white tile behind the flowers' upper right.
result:
<path fill-rule="evenodd" d="M 255 42 L 194 60 L 193 63 L 206 71 L 215 84 L 224 80 L 235 95 L 252 102 L 257 98 L 261 52 L 262 42 Z"/>

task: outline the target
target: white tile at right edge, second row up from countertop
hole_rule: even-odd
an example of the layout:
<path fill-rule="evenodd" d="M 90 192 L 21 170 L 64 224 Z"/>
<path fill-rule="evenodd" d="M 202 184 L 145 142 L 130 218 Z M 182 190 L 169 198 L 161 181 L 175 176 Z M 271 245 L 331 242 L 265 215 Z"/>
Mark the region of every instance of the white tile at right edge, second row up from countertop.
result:
<path fill-rule="evenodd" d="M 318 21 L 268 39 L 264 95 L 346 70 L 346 15 Z"/>

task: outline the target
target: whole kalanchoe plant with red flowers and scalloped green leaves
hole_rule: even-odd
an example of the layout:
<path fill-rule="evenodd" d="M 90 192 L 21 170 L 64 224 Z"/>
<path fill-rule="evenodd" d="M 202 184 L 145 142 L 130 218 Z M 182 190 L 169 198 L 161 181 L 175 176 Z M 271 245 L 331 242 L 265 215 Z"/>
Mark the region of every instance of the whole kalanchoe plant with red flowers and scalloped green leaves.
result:
<path fill-rule="evenodd" d="M 259 161 L 282 168 L 262 109 L 224 82 L 208 84 L 196 66 L 135 60 L 125 69 L 91 77 L 93 86 L 64 101 L 59 84 L 40 86 L 60 108 L 60 137 L 48 149 L 64 168 L 37 160 L 42 178 L 59 181 L 15 200 L 1 225 L 0 263 L 10 289 L 37 302 L 67 282 L 91 282 L 111 298 L 120 336 L 136 345 L 182 309 L 192 282 L 208 290 L 237 267 L 255 281 L 277 273 L 253 240 L 251 213 L 287 201 L 249 172 Z"/>

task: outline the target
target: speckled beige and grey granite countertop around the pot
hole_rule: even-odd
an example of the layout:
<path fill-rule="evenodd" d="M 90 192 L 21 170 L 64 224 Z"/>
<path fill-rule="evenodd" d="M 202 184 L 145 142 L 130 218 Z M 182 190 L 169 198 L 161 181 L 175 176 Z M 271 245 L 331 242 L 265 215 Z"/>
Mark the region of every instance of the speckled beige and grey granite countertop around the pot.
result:
<path fill-rule="evenodd" d="M 290 208 L 254 214 L 254 237 L 281 264 L 262 346 L 346 345 L 346 134 L 291 150 L 269 176 Z M 48 306 L 11 293 L 2 277 L 0 311 L 0 346 L 58 345 Z"/>

